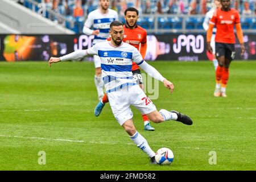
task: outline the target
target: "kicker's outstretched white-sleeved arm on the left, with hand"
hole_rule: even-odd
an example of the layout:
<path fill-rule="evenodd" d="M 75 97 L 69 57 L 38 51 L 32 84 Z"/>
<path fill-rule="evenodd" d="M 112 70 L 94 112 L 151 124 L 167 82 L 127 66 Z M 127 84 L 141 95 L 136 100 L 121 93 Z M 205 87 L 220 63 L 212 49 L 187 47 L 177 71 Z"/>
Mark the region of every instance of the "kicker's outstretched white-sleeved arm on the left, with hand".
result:
<path fill-rule="evenodd" d="M 59 61 L 76 60 L 88 55 L 87 50 L 78 50 L 62 57 L 51 57 L 48 61 L 49 67 L 52 63 L 58 63 Z"/>

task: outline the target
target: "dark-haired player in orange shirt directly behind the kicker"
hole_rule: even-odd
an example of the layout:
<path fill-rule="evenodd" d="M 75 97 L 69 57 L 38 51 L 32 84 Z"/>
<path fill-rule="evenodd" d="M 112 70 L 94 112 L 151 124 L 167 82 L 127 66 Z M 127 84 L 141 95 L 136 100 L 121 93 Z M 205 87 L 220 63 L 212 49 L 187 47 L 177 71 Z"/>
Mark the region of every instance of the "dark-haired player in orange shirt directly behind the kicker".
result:
<path fill-rule="evenodd" d="M 126 24 L 123 26 L 125 32 L 123 35 L 123 42 L 129 43 L 131 46 L 137 48 L 144 59 L 147 51 L 147 32 L 144 30 L 144 28 L 137 25 L 138 15 L 139 12 L 134 7 L 129 7 L 125 10 Z M 137 84 L 139 84 L 139 86 L 143 89 L 141 69 L 139 69 L 139 66 L 134 62 L 131 71 L 133 72 L 133 76 L 137 81 Z M 102 100 L 98 102 L 97 106 L 95 107 L 94 114 L 96 116 L 100 115 L 107 102 L 109 102 L 109 100 L 107 94 L 105 93 Z M 142 115 L 142 118 L 144 121 L 144 130 L 154 131 L 155 129 L 154 127 L 151 127 L 147 115 Z"/>

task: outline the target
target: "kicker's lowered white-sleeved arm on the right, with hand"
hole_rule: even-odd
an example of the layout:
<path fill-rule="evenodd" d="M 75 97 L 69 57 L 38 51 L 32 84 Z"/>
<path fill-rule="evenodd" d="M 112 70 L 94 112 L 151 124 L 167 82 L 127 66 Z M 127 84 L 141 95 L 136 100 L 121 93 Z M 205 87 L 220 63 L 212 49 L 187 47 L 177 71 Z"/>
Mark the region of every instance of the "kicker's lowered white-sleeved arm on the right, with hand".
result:
<path fill-rule="evenodd" d="M 141 67 L 148 75 L 155 78 L 156 80 L 162 81 L 164 86 L 168 89 L 170 89 L 170 92 L 172 93 L 174 91 L 174 84 L 172 82 L 168 81 L 166 78 L 164 78 L 154 67 L 147 64 L 146 61 L 143 61 L 138 64 L 139 67 Z"/>

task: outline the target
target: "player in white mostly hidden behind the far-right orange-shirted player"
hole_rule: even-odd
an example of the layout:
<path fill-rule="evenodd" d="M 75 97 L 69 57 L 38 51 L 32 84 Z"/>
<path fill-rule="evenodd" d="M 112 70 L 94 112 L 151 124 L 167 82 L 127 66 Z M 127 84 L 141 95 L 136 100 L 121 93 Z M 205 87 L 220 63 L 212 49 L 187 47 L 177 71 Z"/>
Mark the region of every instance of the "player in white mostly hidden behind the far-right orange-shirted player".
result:
<path fill-rule="evenodd" d="M 207 12 L 207 14 L 205 14 L 204 23 L 203 23 L 203 27 L 204 27 L 205 31 L 207 31 L 209 28 L 209 22 L 210 22 L 210 19 L 212 19 L 213 13 L 220 7 L 221 7 L 220 0 L 214 0 L 212 9 L 210 9 Z M 215 34 L 216 34 L 216 28 L 213 28 L 213 35 L 212 35 L 212 39 L 210 40 L 210 46 L 212 47 L 212 54 L 213 54 L 212 62 L 213 62 L 214 68 L 216 70 L 218 67 L 218 61 L 215 56 Z"/>

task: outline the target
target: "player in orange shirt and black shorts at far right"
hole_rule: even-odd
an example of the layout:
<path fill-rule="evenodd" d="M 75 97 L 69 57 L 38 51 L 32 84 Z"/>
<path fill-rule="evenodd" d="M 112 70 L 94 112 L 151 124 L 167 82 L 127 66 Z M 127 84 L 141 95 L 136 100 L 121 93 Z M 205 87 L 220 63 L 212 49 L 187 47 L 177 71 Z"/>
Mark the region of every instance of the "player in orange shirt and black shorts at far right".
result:
<path fill-rule="evenodd" d="M 209 22 L 207 31 L 207 49 L 212 53 L 210 39 L 212 37 L 213 27 L 216 25 L 216 57 L 218 67 L 216 69 L 216 88 L 215 97 L 227 97 L 226 85 L 229 78 L 229 65 L 234 59 L 236 36 L 234 34 L 234 25 L 236 25 L 237 38 L 241 44 L 241 55 L 245 52 L 243 44 L 243 32 L 240 23 L 240 16 L 237 10 L 230 9 L 230 0 L 221 0 L 221 8 L 217 9 Z"/>

